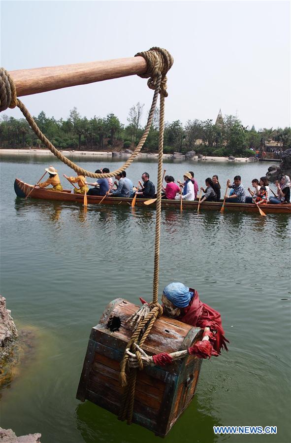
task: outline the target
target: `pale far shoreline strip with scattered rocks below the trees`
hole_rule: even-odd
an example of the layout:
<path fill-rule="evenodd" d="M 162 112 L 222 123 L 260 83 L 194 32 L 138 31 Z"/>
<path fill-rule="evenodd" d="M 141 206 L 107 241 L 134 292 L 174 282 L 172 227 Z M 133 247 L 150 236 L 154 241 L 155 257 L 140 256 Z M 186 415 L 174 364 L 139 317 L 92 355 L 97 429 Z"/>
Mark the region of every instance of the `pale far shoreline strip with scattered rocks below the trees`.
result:
<path fill-rule="evenodd" d="M 60 150 L 62 154 L 64 154 L 68 158 L 81 157 L 86 156 L 88 158 L 99 158 L 99 159 L 128 159 L 132 153 L 130 149 L 125 149 L 124 151 L 112 151 L 112 152 L 100 152 L 100 151 L 66 151 Z M 54 157 L 54 154 L 51 153 L 48 149 L 0 149 L 0 155 L 29 155 L 29 156 L 51 156 Z M 158 153 L 139 153 L 137 156 L 140 160 L 157 160 L 158 161 Z M 173 154 L 163 154 L 164 160 L 173 160 L 176 162 L 183 161 L 193 161 L 193 162 L 256 162 L 258 159 L 255 157 L 242 157 L 236 158 L 233 156 L 229 157 L 213 157 L 213 156 L 204 156 L 202 154 L 196 154 L 195 151 L 189 151 L 185 155 L 180 152 L 174 152 Z"/>

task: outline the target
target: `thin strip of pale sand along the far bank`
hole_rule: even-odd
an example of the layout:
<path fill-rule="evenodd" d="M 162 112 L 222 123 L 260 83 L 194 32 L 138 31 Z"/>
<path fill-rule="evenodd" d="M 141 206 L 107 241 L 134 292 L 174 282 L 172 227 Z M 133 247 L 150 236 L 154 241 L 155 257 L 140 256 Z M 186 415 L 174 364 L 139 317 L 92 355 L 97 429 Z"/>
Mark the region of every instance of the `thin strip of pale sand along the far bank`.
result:
<path fill-rule="evenodd" d="M 121 154 L 121 155 L 114 155 L 115 153 L 112 152 L 92 152 L 92 151 L 60 151 L 62 154 L 65 155 L 65 157 L 73 158 L 73 157 L 82 157 L 86 156 L 88 158 L 101 158 L 101 159 L 108 159 L 108 158 L 114 158 L 118 160 L 119 158 L 128 158 L 130 154 Z M 51 153 L 48 149 L 0 149 L 0 156 L 5 155 L 30 155 L 30 156 L 51 156 L 54 157 L 54 154 Z M 138 157 L 140 159 L 158 159 L 157 153 L 140 153 L 138 154 Z M 171 159 L 172 154 L 163 154 L 164 159 Z M 227 157 L 203 157 L 198 158 L 198 156 L 193 157 L 192 159 L 185 159 L 184 156 L 181 156 L 181 159 L 175 159 L 175 162 L 181 162 L 181 161 L 190 161 L 190 162 L 203 162 L 203 161 L 210 161 L 210 162 L 248 162 L 248 158 L 236 158 L 235 160 L 228 160 Z"/>

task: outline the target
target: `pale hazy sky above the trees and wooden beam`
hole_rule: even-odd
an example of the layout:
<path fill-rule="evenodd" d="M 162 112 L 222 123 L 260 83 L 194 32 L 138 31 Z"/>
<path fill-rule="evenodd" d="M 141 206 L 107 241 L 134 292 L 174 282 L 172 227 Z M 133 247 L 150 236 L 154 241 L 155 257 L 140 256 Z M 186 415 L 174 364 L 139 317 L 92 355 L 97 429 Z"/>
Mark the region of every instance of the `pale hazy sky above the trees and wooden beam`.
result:
<path fill-rule="evenodd" d="M 166 120 L 215 120 L 221 108 L 257 130 L 290 126 L 289 1 L 1 1 L 7 70 L 132 57 L 152 46 L 174 57 Z M 67 118 L 76 106 L 82 116 L 113 112 L 127 123 L 130 106 L 146 111 L 151 99 L 146 80 L 130 76 L 21 100 L 33 115 Z"/>

